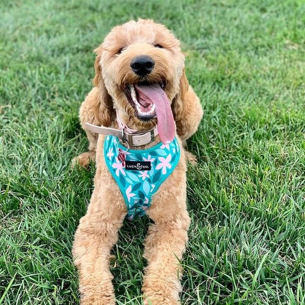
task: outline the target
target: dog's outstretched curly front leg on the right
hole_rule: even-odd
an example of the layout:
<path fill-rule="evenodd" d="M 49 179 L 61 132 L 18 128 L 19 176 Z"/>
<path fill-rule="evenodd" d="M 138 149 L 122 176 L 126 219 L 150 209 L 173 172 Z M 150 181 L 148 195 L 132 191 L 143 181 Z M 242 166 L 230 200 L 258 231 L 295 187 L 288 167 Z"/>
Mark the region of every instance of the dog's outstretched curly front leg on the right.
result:
<path fill-rule="evenodd" d="M 190 218 L 174 196 L 157 208 L 155 211 L 153 206 L 150 208 L 149 216 L 155 224 L 150 225 L 145 240 L 148 265 L 143 283 L 144 304 L 177 305 L 181 291 L 179 260 L 185 251 Z"/>

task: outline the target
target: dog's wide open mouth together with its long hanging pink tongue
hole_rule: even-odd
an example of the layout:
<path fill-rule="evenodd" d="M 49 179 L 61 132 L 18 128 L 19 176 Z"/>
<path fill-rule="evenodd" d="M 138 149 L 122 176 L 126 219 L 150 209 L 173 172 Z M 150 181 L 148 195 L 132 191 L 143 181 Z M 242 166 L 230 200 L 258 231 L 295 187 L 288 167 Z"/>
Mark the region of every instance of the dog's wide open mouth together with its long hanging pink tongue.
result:
<path fill-rule="evenodd" d="M 128 84 L 124 92 L 139 119 L 147 121 L 157 117 L 160 138 L 168 143 L 173 140 L 176 128 L 170 102 L 163 90 L 165 85 L 165 82 L 139 82 Z"/>

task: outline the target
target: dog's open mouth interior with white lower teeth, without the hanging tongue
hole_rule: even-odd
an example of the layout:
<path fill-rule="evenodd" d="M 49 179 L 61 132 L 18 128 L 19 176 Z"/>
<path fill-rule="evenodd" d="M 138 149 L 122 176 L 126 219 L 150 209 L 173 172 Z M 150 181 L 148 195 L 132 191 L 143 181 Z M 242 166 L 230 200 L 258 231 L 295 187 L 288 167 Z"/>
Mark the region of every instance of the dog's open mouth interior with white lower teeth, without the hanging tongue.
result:
<path fill-rule="evenodd" d="M 124 90 L 128 102 L 134 108 L 137 117 L 142 120 L 150 120 L 156 117 L 156 103 L 153 96 L 145 95 L 142 88 L 154 88 L 156 86 L 159 86 L 160 89 L 163 90 L 165 83 L 149 84 L 146 82 L 139 82 L 137 84 L 128 84 Z"/>

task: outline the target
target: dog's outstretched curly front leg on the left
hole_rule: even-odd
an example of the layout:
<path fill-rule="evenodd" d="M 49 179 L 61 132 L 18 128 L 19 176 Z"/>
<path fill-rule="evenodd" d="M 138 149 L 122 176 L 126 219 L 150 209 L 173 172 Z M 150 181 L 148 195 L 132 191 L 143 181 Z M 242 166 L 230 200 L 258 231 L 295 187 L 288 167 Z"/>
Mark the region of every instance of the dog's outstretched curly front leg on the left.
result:
<path fill-rule="evenodd" d="M 75 233 L 73 257 L 79 271 L 81 305 L 115 304 L 109 258 L 126 206 L 117 200 L 117 193 L 111 198 L 106 198 L 106 194 L 94 191 L 87 214 Z"/>

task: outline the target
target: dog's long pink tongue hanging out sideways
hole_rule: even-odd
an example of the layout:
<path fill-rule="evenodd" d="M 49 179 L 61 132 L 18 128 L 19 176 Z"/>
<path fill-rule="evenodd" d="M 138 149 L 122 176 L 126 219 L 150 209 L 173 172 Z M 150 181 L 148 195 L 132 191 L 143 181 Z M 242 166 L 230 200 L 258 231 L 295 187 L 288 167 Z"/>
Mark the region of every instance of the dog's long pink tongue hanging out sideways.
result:
<path fill-rule="evenodd" d="M 175 121 L 166 93 L 159 84 L 135 85 L 139 98 L 147 102 L 147 98 L 156 106 L 155 111 L 158 119 L 158 133 L 163 144 L 167 144 L 174 139 Z M 139 101 L 142 104 L 142 101 Z"/>

